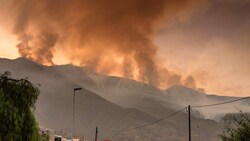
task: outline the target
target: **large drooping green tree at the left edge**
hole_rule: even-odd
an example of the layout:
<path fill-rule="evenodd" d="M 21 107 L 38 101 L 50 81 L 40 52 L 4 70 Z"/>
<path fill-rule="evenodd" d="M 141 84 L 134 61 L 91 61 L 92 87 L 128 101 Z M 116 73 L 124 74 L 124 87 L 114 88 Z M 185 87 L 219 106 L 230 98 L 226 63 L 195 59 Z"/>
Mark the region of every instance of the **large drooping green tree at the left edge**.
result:
<path fill-rule="evenodd" d="M 39 89 L 26 79 L 0 75 L 0 141 L 41 141 L 33 115 Z"/>

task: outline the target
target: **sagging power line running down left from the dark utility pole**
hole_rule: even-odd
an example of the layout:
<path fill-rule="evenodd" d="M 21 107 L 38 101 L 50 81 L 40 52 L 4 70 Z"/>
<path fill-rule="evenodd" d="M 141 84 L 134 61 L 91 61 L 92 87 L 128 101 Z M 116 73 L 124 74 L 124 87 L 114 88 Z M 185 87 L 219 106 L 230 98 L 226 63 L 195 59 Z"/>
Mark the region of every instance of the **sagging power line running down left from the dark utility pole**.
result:
<path fill-rule="evenodd" d="M 137 127 L 133 127 L 133 128 L 128 128 L 128 129 L 121 130 L 118 134 L 116 134 L 116 135 L 113 136 L 112 138 L 114 138 L 114 137 L 116 137 L 116 136 L 118 136 L 118 135 L 120 135 L 121 133 L 126 132 L 126 131 L 136 130 L 136 129 L 143 128 L 143 127 L 148 126 L 148 125 L 151 125 L 151 124 L 155 124 L 155 123 L 157 123 L 157 122 L 160 122 L 160 121 L 162 121 L 162 120 L 165 120 L 165 119 L 167 119 L 167 118 L 170 118 L 170 117 L 172 117 L 172 116 L 174 116 L 174 115 L 176 115 L 176 114 L 178 114 L 178 113 L 180 113 L 180 112 L 182 112 L 182 111 L 184 111 L 184 110 L 186 110 L 186 109 L 187 109 L 187 107 L 185 107 L 185 108 L 183 108 L 183 109 L 181 109 L 181 110 L 179 110 L 179 111 L 177 111 L 177 112 L 175 112 L 175 113 L 172 113 L 172 114 L 170 114 L 170 115 L 167 115 L 167 116 L 165 116 L 165 117 L 163 117 L 163 118 L 161 118 L 161 119 L 158 119 L 158 120 L 153 121 L 153 122 L 150 122 L 150 123 L 143 124 L 143 125 L 141 125 L 141 126 L 137 126 Z"/>

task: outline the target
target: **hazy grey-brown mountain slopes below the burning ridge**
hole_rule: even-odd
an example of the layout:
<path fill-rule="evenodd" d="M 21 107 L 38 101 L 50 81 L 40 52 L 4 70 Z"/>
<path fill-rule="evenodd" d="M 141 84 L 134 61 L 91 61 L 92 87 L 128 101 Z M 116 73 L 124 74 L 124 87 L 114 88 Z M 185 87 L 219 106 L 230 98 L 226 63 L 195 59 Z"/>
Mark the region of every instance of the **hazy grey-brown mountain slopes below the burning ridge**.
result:
<path fill-rule="evenodd" d="M 138 130 L 121 132 L 172 114 L 191 105 L 204 105 L 234 100 L 237 97 L 207 95 L 184 86 L 162 91 L 152 85 L 132 79 L 98 74 L 87 68 L 72 65 L 42 66 L 25 58 L 0 59 L 0 72 L 12 72 L 14 77 L 40 84 L 41 94 L 36 106 L 40 126 L 69 136 L 72 118 L 72 88 L 82 87 L 76 95 L 76 135 L 93 139 L 96 126 L 100 139 L 121 140 L 178 140 L 188 134 L 186 111 L 175 117 Z M 80 77 L 79 77 L 80 76 Z M 237 113 L 235 106 L 250 112 L 250 100 L 219 107 L 192 110 L 193 140 L 219 140 L 223 125 L 221 118 Z M 118 134 L 116 136 L 116 134 Z"/>

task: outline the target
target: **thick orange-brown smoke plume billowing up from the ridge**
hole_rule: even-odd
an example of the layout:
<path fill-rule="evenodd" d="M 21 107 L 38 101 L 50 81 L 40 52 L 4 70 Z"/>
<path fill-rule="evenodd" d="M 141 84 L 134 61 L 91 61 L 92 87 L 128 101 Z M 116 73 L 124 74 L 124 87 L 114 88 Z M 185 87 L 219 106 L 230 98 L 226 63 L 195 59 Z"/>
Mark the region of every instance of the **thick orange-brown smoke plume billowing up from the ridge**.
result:
<path fill-rule="evenodd" d="M 21 56 L 53 65 L 55 48 L 73 63 L 102 73 L 153 85 L 179 84 L 167 74 L 162 82 L 157 47 L 152 42 L 160 21 L 186 19 L 204 0 L 13 0 L 13 32 Z M 192 77 L 186 82 L 195 87 Z"/>

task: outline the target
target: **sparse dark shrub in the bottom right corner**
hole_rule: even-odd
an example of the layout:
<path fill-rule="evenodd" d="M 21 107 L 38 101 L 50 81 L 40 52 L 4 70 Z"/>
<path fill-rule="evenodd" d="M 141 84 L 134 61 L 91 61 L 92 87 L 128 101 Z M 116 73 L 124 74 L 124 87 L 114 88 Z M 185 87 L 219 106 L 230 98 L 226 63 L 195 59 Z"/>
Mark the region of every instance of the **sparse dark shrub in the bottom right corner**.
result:
<path fill-rule="evenodd" d="M 223 141 L 250 141 L 250 118 L 249 115 L 240 112 L 238 116 L 225 118 L 225 131 L 220 135 Z"/>

